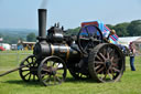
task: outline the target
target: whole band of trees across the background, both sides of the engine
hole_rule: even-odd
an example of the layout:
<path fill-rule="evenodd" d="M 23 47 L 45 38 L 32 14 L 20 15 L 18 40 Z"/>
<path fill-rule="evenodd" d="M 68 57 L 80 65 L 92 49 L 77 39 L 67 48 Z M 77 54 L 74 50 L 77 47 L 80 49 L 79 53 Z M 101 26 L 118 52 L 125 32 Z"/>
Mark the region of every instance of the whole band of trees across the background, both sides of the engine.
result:
<path fill-rule="evenodd" d="M 118 23 L 116 25 L 112 24 L 106 24 L 109 29 L 116 30 L 116 33 L 119 36 L 139 36 L 141 35 L 141 20 L 133 20 L 131 22 L 122 22 Z M 67 35 L 77 35 L 79 32 L 80 27 L 75 28 L 75 29 L 67 29 L 65 31 L 65 34 Z M 23 35 L 11 35 L 11 34 L 2 34 L 0 33 L 0 38 L 3 38 L 4 43 L 18 43 L 18 40 L 22 41 L 29 41 L 29 42 L 35 42 L 36 41 L 36 35 L 34 32 L 30 32 L 26 34 L 26 36 Z"/>

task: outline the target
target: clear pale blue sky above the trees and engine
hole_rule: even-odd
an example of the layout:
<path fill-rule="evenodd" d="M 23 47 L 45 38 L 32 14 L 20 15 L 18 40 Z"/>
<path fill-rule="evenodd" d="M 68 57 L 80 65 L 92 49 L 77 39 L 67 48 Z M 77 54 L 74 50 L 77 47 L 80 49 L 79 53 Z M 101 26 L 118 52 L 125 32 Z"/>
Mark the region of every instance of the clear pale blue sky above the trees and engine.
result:
<path fill-rule="evenodd" d="M 47 29 L 74 29 L 100 20 L 117 24 L 141 20 L 141 0 L 0 0 L 0 29 L 39 29 L 37 9 L 47 9 Z"/>

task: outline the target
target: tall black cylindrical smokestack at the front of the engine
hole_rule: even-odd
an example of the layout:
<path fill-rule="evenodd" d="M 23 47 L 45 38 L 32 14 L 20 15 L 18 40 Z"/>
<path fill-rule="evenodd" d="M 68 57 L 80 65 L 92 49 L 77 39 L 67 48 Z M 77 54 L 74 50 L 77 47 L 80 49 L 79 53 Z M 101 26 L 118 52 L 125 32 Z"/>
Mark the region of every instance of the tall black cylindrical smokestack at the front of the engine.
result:
<path fill-rule="evenodd" d="M 46 39 L 46 9 L 39 9 L 39 41 Z"/>

